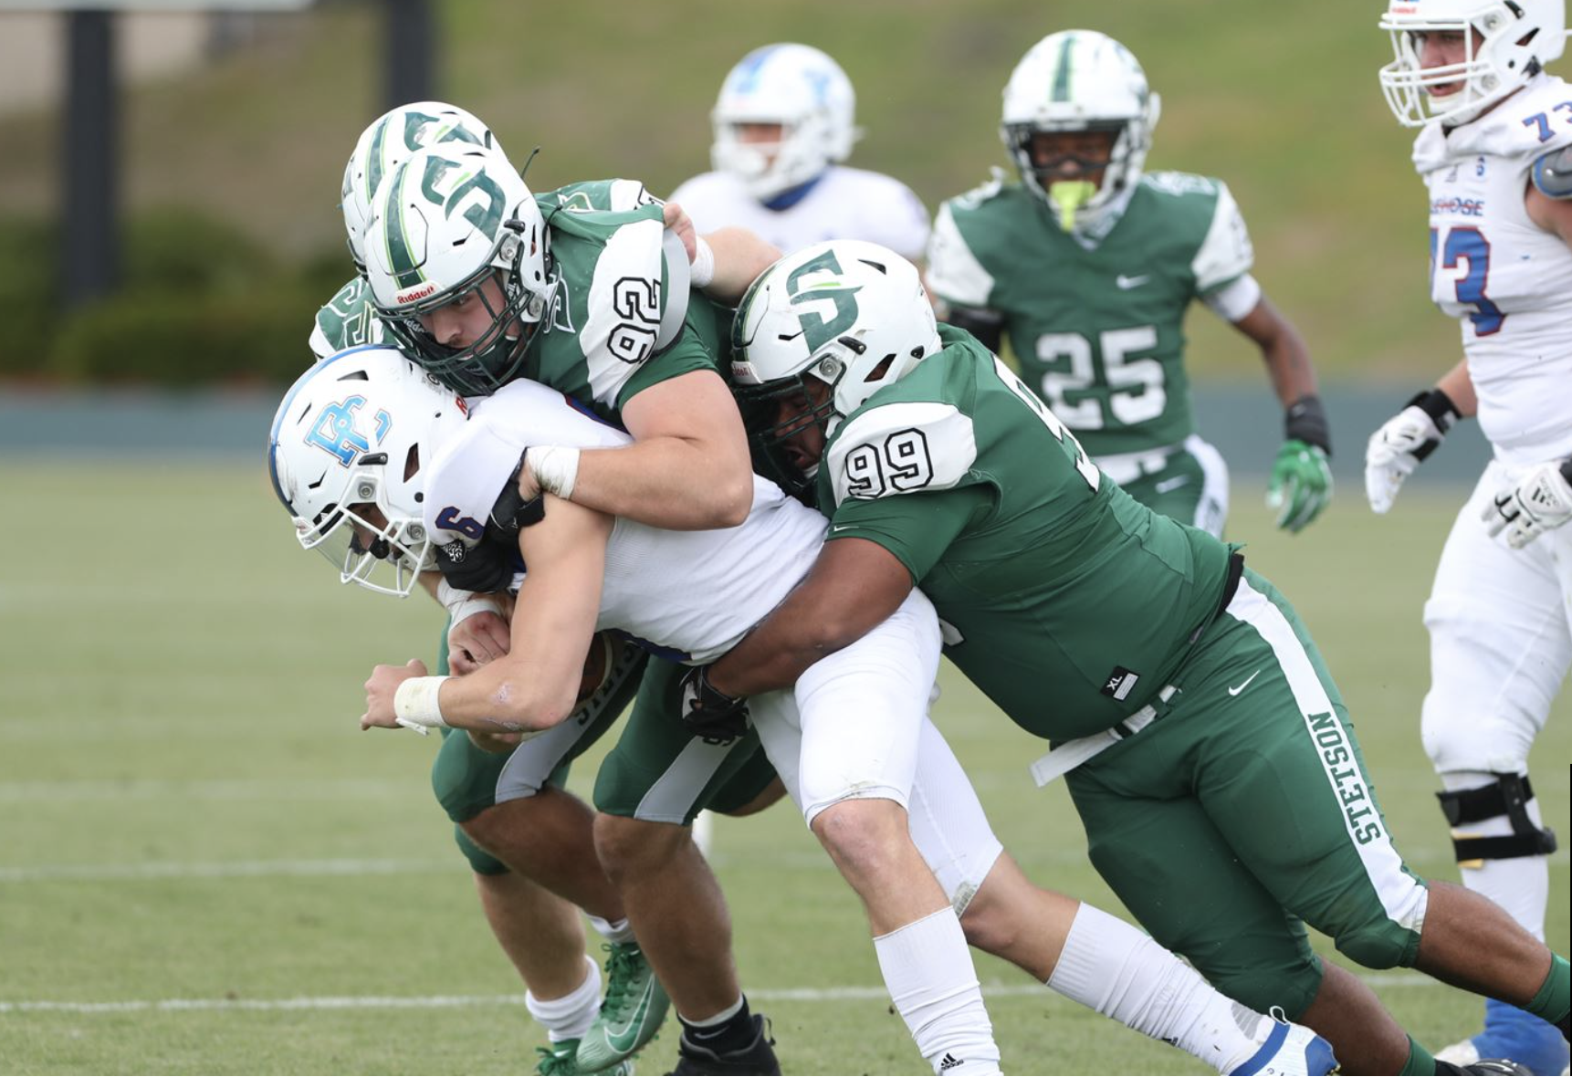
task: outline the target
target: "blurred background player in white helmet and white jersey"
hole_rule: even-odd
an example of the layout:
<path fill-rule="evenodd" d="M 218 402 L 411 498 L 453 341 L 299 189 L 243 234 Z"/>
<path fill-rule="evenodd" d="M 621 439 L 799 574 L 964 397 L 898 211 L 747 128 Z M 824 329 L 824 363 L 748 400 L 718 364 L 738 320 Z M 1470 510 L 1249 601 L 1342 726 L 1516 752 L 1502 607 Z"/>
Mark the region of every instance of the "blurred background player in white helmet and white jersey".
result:
<path fill-rule="evenodd" d="M 736 225 L 783 252 L 868 239 L 907 258 L 927 244 L 927 209 L 910 187 L 843 164 L 860 137 L 852 83 L 803 44 L 755 49 L 720 86 L 711 113 L 714 171 L 671 193 L 701 233 Z"/>

